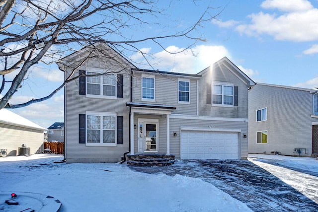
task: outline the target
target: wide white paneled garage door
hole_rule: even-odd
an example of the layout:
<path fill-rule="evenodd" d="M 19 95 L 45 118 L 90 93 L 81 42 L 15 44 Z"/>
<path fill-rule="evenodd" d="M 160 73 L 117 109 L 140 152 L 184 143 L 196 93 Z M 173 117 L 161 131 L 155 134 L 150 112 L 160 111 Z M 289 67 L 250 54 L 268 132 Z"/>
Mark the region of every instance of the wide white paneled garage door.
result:
<path fill-rule="evenodd" d="M 239 159 L 239 134 L 181 131 L 181 159 Z"/>

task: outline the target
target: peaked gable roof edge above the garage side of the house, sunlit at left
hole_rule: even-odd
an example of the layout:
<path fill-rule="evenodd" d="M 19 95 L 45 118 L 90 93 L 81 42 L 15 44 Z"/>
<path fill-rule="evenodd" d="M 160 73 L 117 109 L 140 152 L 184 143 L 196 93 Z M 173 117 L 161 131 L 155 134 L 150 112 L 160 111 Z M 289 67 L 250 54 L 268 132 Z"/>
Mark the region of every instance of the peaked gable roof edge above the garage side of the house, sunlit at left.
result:
<path fill-rule="evenodd" d="M 215 62 L 212 66 L 217 67 L 224 65 L 227 67 L 230 71 L 232 71 L 240 80 L 242 80 L 248 87 L 254 86 L 256 83 L 249 78 L 243 71 L 241 71 L 232 61 L 230 61 L 227 57 L 222 58 L 221 60 Z M 203 71 L 200 71 L 197 74 L 203 75 L 205 72 L 209 71 L 211 69 L 211 66 L 207 67 Z"/>

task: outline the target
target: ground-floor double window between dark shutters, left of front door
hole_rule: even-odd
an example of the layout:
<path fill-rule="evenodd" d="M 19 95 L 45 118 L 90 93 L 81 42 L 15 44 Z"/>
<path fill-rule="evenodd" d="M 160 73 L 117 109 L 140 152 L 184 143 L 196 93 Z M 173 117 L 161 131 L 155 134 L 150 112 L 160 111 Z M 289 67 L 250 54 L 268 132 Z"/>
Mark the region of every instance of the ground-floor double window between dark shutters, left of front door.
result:
<path fill-rule="evenodd" d="M 88 113 L 86 123 L 86 144 L 116 145 L 115 113 Z"/>

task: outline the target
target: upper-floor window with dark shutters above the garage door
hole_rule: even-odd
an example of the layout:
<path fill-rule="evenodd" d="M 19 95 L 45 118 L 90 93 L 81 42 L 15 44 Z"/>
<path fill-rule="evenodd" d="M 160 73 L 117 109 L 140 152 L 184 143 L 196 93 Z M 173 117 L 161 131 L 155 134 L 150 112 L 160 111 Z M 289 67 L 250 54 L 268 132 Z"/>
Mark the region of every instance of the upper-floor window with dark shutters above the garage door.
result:
<path fill-rule="evenodd" d="M 233 106 L 233 89 L 231 84 L 214 83 L 212 86 L 212 104 L 215 106 Z"/>

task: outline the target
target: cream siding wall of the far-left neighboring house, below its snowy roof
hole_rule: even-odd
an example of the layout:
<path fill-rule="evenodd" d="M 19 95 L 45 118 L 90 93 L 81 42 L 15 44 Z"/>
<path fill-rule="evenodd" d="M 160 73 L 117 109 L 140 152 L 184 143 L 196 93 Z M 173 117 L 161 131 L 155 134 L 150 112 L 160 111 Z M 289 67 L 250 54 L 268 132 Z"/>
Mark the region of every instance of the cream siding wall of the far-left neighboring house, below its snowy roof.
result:
<path fill-rule="evenodd" d="M 18 155 L 22 144 L 30 147 L 30 153 L 42 153 L 44 132 L 30 128 L 0 123 L 0 149 L 7 149 L 7 155 Z"/>

